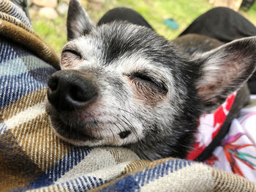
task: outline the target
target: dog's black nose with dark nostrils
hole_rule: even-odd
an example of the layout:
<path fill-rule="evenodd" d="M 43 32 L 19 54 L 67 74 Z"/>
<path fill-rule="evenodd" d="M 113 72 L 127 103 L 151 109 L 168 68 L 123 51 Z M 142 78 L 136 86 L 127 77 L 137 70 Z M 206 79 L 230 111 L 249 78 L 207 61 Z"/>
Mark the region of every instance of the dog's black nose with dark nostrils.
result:
<path fill-rule="evenodd" d="M 48 100 L 56 110 L 86 107 L 97 98 L 97 90 L 89 78 L 74 70 L 54 73 L 48 80 Z"/>

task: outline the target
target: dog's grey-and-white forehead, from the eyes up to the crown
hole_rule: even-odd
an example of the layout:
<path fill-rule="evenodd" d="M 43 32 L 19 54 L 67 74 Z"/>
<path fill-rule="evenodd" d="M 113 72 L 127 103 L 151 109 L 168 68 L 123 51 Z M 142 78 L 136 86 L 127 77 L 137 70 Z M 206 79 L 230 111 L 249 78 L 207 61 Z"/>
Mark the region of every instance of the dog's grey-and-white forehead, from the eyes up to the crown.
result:
<path fill-rule="evenodd" d="M 85 68 L 99 66 L 122 74 L 147 72 L 167 80 L 171 77 L 172 63 L 176 63 L 170 42 L 150 28 L 129 23 L 99 26 L 72 43 L 88 61 Z"/>

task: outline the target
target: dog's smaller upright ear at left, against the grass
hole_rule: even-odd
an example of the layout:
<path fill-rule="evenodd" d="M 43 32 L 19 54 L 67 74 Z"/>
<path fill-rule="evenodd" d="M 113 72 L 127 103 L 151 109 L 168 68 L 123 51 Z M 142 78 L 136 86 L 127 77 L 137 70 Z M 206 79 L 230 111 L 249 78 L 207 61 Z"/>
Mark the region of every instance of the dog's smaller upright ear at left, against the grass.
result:
<path fill-rule="evenodd" d="M 78 0 L 69 1 L 67 12 L 67 40 L 78 38 L 88 34 L 95 27 L 89 15 Z"/>

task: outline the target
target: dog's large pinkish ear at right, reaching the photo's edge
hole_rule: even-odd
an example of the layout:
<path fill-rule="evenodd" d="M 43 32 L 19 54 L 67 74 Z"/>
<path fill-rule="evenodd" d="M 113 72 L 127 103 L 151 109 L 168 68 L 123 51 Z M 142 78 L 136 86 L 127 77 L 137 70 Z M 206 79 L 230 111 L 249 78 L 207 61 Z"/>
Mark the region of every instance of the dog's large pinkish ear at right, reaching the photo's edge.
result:
<path fill-rule="evenodd" d="M 227 43 L 203 53 L 195 62 L 200 65 L 197 94 L 204 103 L 204 112 L 213 112 L 255 71 L 256 37 Z"/>

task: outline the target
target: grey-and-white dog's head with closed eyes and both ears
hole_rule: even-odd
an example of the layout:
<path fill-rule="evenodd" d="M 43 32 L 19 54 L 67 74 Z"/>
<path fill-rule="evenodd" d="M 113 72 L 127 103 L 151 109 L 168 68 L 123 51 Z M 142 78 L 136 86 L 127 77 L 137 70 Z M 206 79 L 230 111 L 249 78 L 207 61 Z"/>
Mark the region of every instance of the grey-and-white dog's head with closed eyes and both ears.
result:
<path fill-rule="evenodd" d="M 183 158 L 200 115 L 255 70 L 255 38 L 188 59 L 150 28 L 94 26 L 77 0 L 69 3 L 67 30 L 62 70 L 48 81 L 47 112 L 56 134 L 74 145 Z"/>

